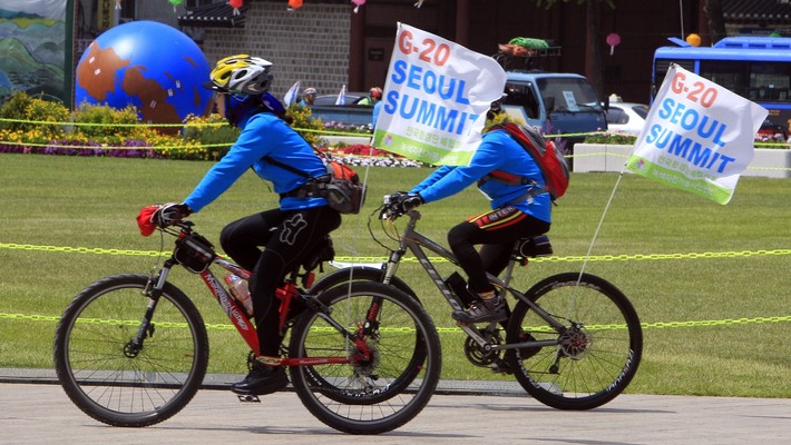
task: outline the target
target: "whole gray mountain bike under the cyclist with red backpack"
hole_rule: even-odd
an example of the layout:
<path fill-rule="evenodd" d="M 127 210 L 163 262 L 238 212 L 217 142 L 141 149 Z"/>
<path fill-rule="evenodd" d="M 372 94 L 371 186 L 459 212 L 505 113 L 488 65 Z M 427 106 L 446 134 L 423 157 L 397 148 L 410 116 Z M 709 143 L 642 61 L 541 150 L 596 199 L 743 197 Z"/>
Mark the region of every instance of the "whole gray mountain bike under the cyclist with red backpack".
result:
<path fill-rule="evenodd" d="M 372 230 L 379 214 L 384 233 L 398 244 L 388 248 Z M 352 266 L 335 270 L 318 280 L 312 293 L 345 286 L 349 281 L 380 281 L 418 298 L 396 273 L 408 251 L 418 259 L 451 310 L 469 303 L 463 278 L 458 273 L 442 278 L 426 250 L 458 267 L 453 254 L 417 231 L 420 212 L 406 214 L 402 230 L 396 220 L 402 211 L 385 197 L 384 204 L 369 218 L 371 236 L 389 250 L 381 267 Z M 462 324 L 467 334 L 465 355 L 476 366 L 514 374 L 519 384 L 537 400 L 558 409 L 590 409 L 621 394 L 629 384 L 641 362 L 643 333 L 639 318 L 626 296 L 607 280 L 590 274 L 564 273 L 547 277 L 526 291 L 509 286 L 516 265 L 529 258 L 551 255 L 549 238 L 544 235 L 519 239 L 502 278 L 490 281 L 514 297 L 509 318 L 502 323 Z M 504 337 L 505 334 L 505 337 Z M 413 359 L 420 360 L 420 357 Z"/>

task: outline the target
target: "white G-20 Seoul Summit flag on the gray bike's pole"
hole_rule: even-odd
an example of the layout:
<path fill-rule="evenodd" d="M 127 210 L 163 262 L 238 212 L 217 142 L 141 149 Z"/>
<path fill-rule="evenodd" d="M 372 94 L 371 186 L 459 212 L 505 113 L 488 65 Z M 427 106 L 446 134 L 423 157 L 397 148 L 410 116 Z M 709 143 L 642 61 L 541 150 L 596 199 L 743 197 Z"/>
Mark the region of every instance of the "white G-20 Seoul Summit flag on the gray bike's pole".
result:
<path fill-rule="evenodd" d="M 671 65 L 626 168 L 717 204 L 733 197 L 768 110 Z"/>

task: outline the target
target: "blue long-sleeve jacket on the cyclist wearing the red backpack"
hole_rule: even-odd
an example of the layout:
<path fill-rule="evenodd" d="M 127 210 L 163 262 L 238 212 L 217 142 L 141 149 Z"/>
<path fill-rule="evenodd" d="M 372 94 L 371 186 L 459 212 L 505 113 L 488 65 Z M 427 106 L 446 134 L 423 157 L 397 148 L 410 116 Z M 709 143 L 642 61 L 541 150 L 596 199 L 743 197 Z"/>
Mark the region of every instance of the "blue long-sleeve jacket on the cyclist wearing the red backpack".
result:
<path fill-rule="evenodd" d="M 536 161 L 502 129 L 484 135 L 468 166 L 442 166 L 410 192 L 419 192 L 426 202 L 440 200 L 458 194 L 494 170 L 527 177 L 536 185 L 508 185 L 497 180 L 484 182 L 479 188 L 489 197 L 492 209 L 510 202 L 534 218 L 551 222 L 551 199 L 548 192 L 512 202 L 525 196 L 531 187 L 545 187 L 545 182 Z"/>

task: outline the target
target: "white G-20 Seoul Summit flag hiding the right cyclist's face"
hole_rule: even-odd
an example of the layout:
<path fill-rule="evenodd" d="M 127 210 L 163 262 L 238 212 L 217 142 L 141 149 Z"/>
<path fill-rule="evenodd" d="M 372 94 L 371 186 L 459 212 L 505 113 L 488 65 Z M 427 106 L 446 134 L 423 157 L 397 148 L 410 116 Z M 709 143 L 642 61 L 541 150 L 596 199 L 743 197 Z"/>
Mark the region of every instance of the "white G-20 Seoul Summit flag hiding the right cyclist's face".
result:
<path fill-rule="evenodd" d="M 467 165 L 505 86 L 491 57 L 399 23 L 373 146 L 432 165 Z"/>

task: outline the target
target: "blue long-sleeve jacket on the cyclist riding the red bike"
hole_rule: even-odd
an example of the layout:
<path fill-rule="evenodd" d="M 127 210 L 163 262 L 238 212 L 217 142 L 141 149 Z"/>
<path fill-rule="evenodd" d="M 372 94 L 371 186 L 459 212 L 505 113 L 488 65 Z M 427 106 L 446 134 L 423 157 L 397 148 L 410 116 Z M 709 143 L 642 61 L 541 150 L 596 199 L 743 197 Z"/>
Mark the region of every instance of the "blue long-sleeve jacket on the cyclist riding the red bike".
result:
<path fill-rule="evenodd" d="M 193 211 L 199 211 L 227 190 L 248 168 L 272 182 L 274 191 L 284 194 L 303 185 L 307 178 L 263 160 L 268 156 L 312 177 L 326 175 L 326 167 L 313 148 L 286 122 L 268 112 L 257 112 L 240 121 L 242 134 L 184 200 Z M 284 197 L 280 208 L 294 210 L 326 205 L 324 198 Z"/>

